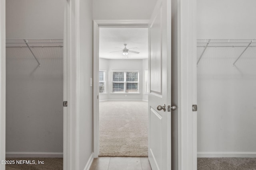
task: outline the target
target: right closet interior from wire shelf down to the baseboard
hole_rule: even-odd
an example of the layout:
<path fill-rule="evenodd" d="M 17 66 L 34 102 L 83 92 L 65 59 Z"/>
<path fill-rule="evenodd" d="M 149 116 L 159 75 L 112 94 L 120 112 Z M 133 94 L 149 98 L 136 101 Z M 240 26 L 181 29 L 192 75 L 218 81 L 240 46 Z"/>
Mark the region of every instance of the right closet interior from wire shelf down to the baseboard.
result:
<path fill-rule="evenodd" d="M 198 157 L 254 157 L 256 39 L 197 39 Z"/>

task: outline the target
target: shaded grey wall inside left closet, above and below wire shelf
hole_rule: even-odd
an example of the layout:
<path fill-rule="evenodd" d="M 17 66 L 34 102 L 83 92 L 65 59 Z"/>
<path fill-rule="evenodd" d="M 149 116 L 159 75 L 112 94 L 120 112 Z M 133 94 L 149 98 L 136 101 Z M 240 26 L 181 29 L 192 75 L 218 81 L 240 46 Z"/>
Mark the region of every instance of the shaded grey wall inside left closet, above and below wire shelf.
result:
<path fill-rule="evenodd" d="M 6 39 L 63 38 L 64 1 L 6 1 Z M 6 48 L 6 152 L 63 152 L 62 48 Z M 32 155 L 31 155 L 32 156 Z"/>

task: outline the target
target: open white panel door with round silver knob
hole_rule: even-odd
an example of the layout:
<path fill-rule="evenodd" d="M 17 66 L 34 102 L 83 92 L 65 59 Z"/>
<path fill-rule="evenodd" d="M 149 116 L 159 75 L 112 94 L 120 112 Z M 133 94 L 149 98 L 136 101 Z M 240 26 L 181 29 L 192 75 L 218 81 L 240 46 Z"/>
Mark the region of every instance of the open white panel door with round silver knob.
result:
<path fill-rule="evenodd" d="M 171 169 L 171 3 L 158 0 L 149 24 L 148 158 L 152 170 Z M 161 109 L 160 106 L 164 106 Z M 160 105 L 160 106 L 159 106 Z M 161 110 L 159 110 L 161 109 Z"/>

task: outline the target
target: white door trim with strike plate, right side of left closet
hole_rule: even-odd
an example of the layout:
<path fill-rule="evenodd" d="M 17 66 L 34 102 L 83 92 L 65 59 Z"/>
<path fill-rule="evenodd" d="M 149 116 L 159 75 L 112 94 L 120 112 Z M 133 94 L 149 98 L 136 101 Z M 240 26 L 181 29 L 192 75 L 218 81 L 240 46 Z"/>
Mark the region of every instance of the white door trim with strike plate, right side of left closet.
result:
<path fill-rule="evenodd" d="M 66 0 L 64 19 L 63 169 L 79 169 L 79 0 Z M 66 48 L 65 48 L 66 45 Z"/>

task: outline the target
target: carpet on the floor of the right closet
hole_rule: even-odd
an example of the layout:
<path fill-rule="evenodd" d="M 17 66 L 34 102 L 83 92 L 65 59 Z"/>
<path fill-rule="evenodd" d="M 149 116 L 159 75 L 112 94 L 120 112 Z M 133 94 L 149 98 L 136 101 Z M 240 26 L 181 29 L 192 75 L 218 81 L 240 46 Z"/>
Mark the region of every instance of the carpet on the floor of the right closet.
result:
<path fill-rule="evenodd" d="M 197 158 L 198 170 L 256 170 L 256 158 Z"/>

